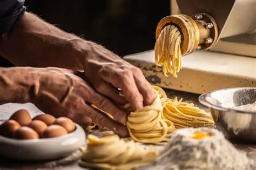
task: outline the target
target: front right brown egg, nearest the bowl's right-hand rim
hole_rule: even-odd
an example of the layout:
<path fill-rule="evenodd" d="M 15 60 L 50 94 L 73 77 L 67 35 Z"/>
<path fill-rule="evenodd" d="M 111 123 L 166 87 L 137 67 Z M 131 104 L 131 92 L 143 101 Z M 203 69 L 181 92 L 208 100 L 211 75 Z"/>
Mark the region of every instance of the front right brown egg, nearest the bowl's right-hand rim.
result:
<path fill-rule="evenodd" d="M 46 128 L 43 133 L 43 138 L 55 138 L 60 137 L 62 135 L 68 134 L 68 131 L 62 126 L 59 125 L 51 125 Z"/>

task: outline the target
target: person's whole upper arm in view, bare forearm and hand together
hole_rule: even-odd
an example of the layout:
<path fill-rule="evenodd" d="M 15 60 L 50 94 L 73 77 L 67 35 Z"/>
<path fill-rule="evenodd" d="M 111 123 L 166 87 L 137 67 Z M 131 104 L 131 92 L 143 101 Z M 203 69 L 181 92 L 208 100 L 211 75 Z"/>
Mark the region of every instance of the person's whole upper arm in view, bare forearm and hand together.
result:
<path fill-rule="evenodd" d="M 150 105 L 155 97 L 137 67 L 103 46 L 64 32 L 32 13 L 25 12 L 15 28 L 0 39 L 0 55 L 18 66 L 84 71 L 96 91 L 122 104 L 130 102 L 133 110 Z M 119 96 L 118 89 L 124 97 Z"/>

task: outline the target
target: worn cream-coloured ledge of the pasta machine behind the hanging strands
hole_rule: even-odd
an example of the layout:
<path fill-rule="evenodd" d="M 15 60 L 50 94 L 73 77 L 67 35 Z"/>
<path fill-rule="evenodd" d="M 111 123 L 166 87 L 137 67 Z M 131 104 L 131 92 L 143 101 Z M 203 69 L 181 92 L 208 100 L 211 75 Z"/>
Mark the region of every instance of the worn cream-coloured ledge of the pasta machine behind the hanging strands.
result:
<path fill-rule="evenodd" d="M 225 53 L 196 51 L 182 57 L 182 69 L 174 78 L 165 77 L 154 62 L 154 51 L 124 57 L 138 66 L 150 83 L 168 89 L 205 93 L 228 87 L 256 87 L 256 58 Z"/>

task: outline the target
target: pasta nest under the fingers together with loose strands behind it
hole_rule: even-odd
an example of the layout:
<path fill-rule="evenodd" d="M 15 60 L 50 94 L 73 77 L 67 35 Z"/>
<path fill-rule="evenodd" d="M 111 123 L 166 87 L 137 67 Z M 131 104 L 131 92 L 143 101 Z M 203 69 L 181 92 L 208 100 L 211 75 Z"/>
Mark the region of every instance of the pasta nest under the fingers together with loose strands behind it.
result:
<path fill-rule="evenodd" d="M 157 97 L 150 106 L 145 106 L 135 112 L 131 112 L 130 104 L 124 106 L 130 112 L 126 126 L 134 141 L 159 144 L 167 141 L 177 128 L 214 127 L 211 115 L 204 110 L 193 104 L 182 102 L 182 99 L 179 101 L 177 98 L 169 99 L 163 89 L 158 86 L 152 87 Z M 93 107 L 99 110 L 97 106 Z M 111 117 L 109 113 L 106 114 Z"/>

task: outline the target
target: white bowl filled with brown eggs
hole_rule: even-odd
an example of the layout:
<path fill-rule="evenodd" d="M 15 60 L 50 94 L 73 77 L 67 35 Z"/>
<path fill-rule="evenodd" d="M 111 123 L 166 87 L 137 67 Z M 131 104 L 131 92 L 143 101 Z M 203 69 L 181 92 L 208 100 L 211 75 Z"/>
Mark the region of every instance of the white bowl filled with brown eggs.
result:
<path fill-rule="evenodd" d="M 66 117 L 50 114 L 30 117 L 19 110 L 0 125 L 0 155 L 19 160 L 50 160 L 66 157 L 85 144 L 82 127 Z"/>

